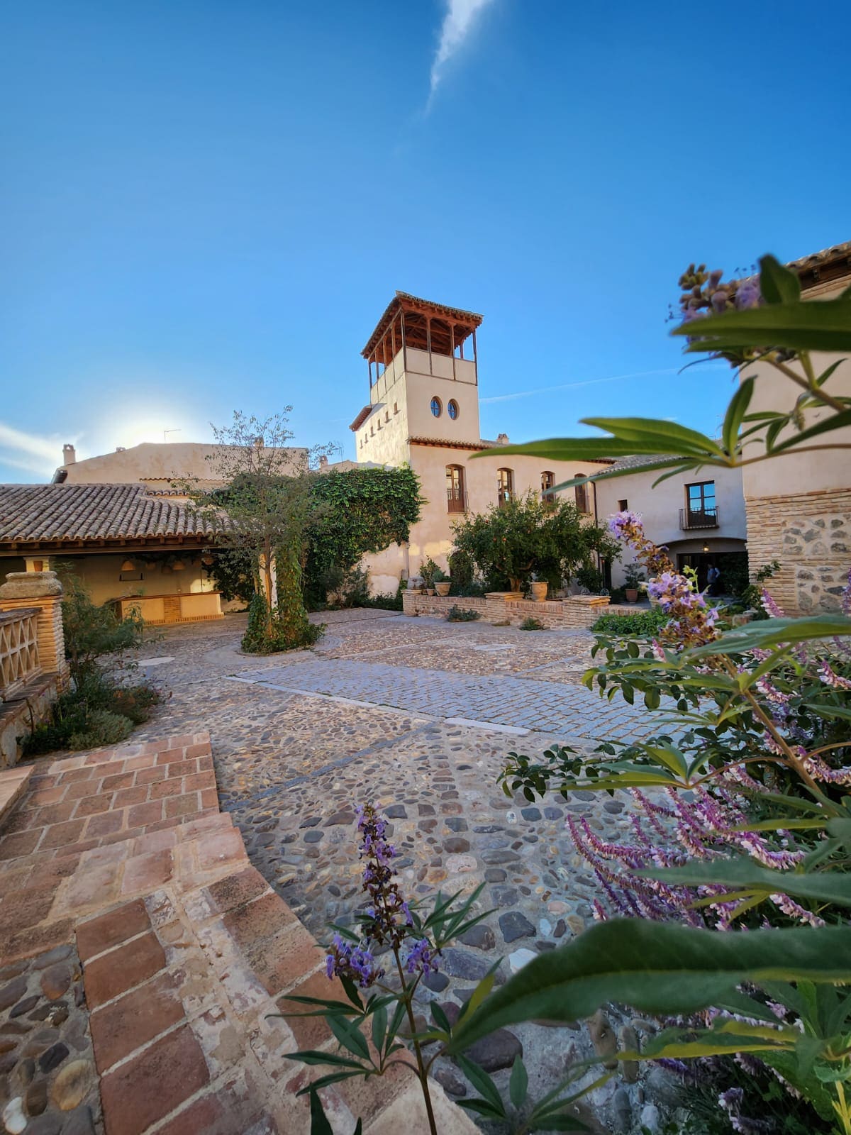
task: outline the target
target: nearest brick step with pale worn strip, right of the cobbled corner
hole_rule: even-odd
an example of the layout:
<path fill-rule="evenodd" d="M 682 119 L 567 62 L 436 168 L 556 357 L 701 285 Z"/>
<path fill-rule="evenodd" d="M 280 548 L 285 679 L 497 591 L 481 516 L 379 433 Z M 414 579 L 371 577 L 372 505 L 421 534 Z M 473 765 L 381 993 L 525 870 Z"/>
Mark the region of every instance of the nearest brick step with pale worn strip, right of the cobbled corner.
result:
<path fill-rule="evenodd" d="M 207 850 L 209 864 L 216 850 Z M 325 976 L 313 938 L 247 859 L 213 882 L 189 883 L 175 875 L 77 927 L 106 1135 L 307 1132 L 307 1099 L 297 1092 L 325 1069 L 305 1069 L 287 1053 L 336 1051 L 337 1042 L 321 1019 L 270 1015 L 292 1008 L 286 993 L 343 991 Z M 432 1098 L 441 1135 L 475 1135 L 437 1084 Z M 419 1085 L 399 1067 L 336 1085 L 322 1099 L 335 1130 L 353 1130 L 360 1117 L 364 1135 L 427 1135 Z"/>

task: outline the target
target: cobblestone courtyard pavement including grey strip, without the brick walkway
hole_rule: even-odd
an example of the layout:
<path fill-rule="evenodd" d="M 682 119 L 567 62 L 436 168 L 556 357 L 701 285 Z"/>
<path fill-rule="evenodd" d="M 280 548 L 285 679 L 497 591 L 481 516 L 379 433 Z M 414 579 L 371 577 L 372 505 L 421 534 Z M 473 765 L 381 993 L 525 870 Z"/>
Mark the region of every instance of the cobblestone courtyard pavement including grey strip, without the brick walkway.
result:
<path fill-rule="evenodd" d="M 221 807 L 254 865 L 320 939 L 362 898 L 354 823 L 362 800 L 390 818 L 410 894 L 483 883 L 480 908 L 494 913 L 447 950 L 422 987 L 424 999 L 463 999 L 498 957 L 504 980 L 590 919 L 597 883 L 573 849 L 566 814 L 584 816 L 606 840 L 623 840 L 630 827 L 621 793 L 534 805 L 506 798 L 497 777 L 507 751 L 626 738 L 649 730 L 650 715 L 575 684 L 571 675 L 590 661 L 583 632 L 372 611 L 323 619 L 320 649 L 269 658 L 239 653 L 244 616 L 166 631 L 145 654 L 169 659 L 148 667 L 169 697 L 134 740 L 210 731 Z M 507 1068 L 525 1045 L 539 1086 L 551 1087 L 566 1052 L 590 1051 L 584 1029 L 539 1037 L 533 1026 L 516 1028 L 482 1060 Z M 449 1091 L 465 1090 L 450 1066 L 438 1070 Z M 617 1129 L 626 1132 L 623 1093 L 637 1086 L 612 1085 L 621 1093 Z"/>

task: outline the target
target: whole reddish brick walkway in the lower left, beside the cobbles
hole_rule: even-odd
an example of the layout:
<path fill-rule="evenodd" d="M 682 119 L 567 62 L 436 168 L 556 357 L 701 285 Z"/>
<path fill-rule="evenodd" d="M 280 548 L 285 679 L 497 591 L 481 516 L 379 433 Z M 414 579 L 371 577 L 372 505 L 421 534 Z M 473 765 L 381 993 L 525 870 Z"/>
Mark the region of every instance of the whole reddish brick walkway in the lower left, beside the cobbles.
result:
<path fill-rule="evenodd" d="M 287 1053 L 336 1041 L 322 1022 L 270 1015 L 289 1007 L 288 993 L 335 990 L 320 977 L 315 940 L 218 809 L 208 734 L 40 763 L 3 826 L 0 858 L 0 1034 L 11 1035 L 0 1088 L 17 1109 L 7 1130 L 30 1129 L 16 1126 L 22 1115 L 37 1117 L 33 1132 L 62 1135 L 307 1132 L 297 1092 L 311 1077 Z M 83 1056 L 69 1059 L 66 1044 L 51 1046 L 54 1029 L 39 1031 L 37 1007 L 26 1016 L 37 998 L 19 998 L 42 966 L 57 978 L 57 959 L 70 982 L 74 958 L 89 1019 Z M 42 989 L 58 998 L 68 982 L 56 994 Z M 419 1087 L 397 1071 L 378 1086 L 325 1092 L 335 1130 L 360 1117 L 364 1135 L 395 1135 L 404 1113 L 411 1135 L 424 1133 Z M 34 1087 L 49 1074 L 45 1111 L 47 1081 L 41 1095 Z M 433 1092 L 441 1130 L 475 1130 Z"/>

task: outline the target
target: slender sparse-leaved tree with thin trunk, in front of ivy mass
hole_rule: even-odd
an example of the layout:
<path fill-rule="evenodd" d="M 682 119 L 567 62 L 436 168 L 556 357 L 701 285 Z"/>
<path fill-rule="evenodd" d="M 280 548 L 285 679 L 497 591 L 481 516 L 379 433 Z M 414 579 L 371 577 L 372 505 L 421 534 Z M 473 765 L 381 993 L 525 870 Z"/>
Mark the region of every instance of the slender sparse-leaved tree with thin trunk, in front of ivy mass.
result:
<path fill-rule="evenodd" d="M 234 412 L 226 427 L 212 427 L 216 449 L 208 459 L 217 487 L 193 496 L 210 520 L 217 547 L 255 579 L 266 622 L 253 648 L 287 649 L 315 639 L 304 608 L 301 564 L 310 515 L 314 451 L 289 445 L 292 406 L 266 419 Z M 256 622 L 256 619 L 255 619 Z M 256 630 L 256 628 L 255 628 Z"/>

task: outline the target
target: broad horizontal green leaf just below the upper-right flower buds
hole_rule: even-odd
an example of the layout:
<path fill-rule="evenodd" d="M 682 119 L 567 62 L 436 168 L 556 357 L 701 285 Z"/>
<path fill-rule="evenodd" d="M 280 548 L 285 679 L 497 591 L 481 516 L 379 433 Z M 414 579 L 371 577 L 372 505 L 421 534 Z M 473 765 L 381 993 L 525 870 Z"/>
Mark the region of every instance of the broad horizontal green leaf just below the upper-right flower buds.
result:
<path fill-rule="evenodd" d="M 672 335 L 694 339 L 688 351 L 785 347 L 790 351 L 851 351 L 851 301 L 801 301 L 709 316 L 682 323 Z"/>

